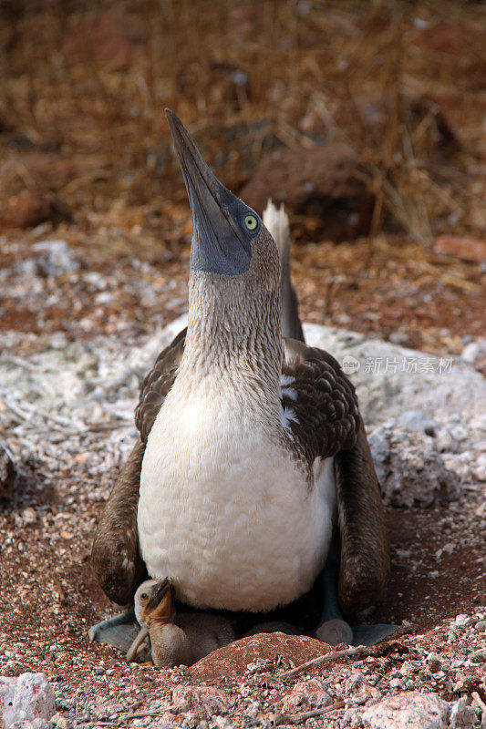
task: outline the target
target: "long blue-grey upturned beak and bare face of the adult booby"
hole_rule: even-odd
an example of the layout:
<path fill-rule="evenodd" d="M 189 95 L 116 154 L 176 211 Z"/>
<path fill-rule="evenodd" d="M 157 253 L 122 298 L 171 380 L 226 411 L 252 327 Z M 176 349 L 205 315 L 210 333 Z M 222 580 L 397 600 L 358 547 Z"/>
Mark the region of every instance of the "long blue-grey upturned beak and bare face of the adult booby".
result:
<path fill-rule="evenodd" d="M 262 221 L 215 177 L 181 119 L 165 111 L 191 205 L 191 271 L 240 276 L 250 268 Z"/>

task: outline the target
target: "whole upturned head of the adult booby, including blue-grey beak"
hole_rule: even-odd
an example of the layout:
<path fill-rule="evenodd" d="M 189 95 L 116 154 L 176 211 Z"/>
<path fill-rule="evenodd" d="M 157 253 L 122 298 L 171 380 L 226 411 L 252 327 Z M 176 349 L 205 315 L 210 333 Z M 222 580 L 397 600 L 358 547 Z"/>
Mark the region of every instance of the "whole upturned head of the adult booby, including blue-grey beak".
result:
<path fill-rule="evenodd" d="M 191 278 L 222 283 L 226 295 L 276 292 L 279 256 L 263 221 L 215 177 L 181 119 L 170 109 L 166 114 L 191 205 Z"/>

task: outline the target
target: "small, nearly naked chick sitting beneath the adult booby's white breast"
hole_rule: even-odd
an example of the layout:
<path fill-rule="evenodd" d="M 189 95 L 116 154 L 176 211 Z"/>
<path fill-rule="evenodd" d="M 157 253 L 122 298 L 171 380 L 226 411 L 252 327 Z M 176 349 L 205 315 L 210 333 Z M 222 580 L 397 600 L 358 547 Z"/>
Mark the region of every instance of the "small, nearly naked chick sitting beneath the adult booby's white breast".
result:
<path fill-rule="evenodd" d="M 129 648 L 127 662 L 135 660 L 148 636 L 151 659 L 157 668 L 191 666 L 235 640 L 230 621 L 222 616 L 209 612 L 176 616 L 170 579 L 142 582 L 134 602 L 140 632 Z"/>

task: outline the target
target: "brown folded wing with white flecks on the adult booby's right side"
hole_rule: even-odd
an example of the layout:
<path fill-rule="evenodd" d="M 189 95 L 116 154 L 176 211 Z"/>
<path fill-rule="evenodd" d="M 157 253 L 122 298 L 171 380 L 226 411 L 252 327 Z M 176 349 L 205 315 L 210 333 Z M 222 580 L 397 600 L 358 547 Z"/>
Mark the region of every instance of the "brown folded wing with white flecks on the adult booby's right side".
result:
<path fill-rule="evenodd" d="M 389 570 L 388 535 L 375 467 L 359 415 L 354 386 L 334 357 L 292 339 L 284 340 L 282 405 L 295 446 L 309 465 L 335 457 L 340 531 L 339 603 L 345 612 L 364 610 L 382 593 Z"/>

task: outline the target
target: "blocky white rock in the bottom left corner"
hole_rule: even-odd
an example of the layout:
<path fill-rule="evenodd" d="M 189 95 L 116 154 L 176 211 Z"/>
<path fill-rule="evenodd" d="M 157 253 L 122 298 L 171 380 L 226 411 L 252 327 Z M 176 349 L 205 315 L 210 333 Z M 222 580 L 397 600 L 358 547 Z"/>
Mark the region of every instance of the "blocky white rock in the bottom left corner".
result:
<path fill-rule="evenodd" d="M 2 694 L 5 729 L 23 720 L 47 721 L 56 710 L 54 693 L 44 673 L 22 673 L 17 679 L 0 677 Z"/>

